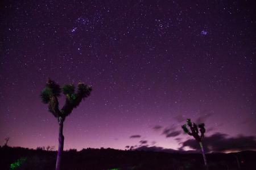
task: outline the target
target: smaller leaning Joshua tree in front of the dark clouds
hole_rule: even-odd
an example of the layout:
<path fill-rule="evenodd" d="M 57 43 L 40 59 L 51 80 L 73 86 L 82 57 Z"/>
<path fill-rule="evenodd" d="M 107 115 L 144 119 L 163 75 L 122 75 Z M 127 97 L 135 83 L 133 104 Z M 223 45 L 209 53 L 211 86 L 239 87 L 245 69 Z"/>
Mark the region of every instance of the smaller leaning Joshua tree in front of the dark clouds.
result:
<path fill-rule="evenodd" d="M 191 132 L 189 132 L 189 130 L 187 128 L 187 125 L 190 127 Z M 183 131 L 186 134 L 188 134 L 190 136 L 193 136 L 196 139 L 196 141 L 199 142 L 200 147 L 201 147 L 201 151 L 202 151 L 202 154 L 203 154 L 203 157 L 204 157 L 204 164 L 207 167 L 207 159 L 205 157 L 204 148 L 203 148 L 203 144 L 202 144 L 202 138 L 204 138 L 204 133 L 205 133 L 205 128 L 204 128 L 205 125 L 204 125 L 204 123 L 200 123 L 198 125 L 198 127 L 200 128 L 200 132 L 201 132 L 200 136 L 199 136 L 199 131 L 198 131 L 196 123 L 192 123 L 191 119 L 187 119 L 187 125 L 184 124 L 181 127 L 183 128 Z"/>

